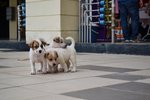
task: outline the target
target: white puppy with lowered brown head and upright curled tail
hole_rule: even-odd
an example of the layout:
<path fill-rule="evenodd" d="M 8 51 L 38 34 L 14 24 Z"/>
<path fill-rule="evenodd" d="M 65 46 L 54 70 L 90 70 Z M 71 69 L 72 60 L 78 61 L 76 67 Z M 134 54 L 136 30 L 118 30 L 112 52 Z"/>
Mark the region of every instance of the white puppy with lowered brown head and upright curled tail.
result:
<path fill-rule="evenodd" d="M 45 58 L 47 59 L 48 66 L 56 69 L 58 64 L 63 67 L 65 72 L 71 70 L 76 71 L 76 50 L 75 41 L 72 37 L 67 37 L 67 40 L 71 41 L 71 45 L 66 48 L 49 48 L 46 50 Z M 70 62 L 72 66 L 70 66 Z"/>

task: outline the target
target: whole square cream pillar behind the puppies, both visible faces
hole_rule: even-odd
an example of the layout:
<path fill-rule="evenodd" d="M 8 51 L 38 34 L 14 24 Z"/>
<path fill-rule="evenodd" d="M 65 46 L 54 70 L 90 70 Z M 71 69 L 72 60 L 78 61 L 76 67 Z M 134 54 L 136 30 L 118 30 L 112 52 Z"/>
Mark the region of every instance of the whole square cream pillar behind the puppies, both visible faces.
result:
<path fill-rule="evenodd" d="M 77 39 L 78 0 L 26 0 L 26 42 L 55 36 Z"/>

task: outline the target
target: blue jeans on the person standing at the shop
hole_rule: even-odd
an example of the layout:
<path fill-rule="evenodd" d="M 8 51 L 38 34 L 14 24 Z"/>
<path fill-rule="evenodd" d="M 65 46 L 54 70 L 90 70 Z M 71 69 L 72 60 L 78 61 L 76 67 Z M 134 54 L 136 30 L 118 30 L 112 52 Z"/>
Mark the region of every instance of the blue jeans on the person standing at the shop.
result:
<path fill-rule="evenodd" d="M 135 40 L 139 34 L 139 8 L 137 1 L 126 0 L 119 2 L 121 26 L 125 40 Z M 131 18 L 131 28 L 129 28 L 129 18 Z M 131 29 L 131 30 L 130 30 Z"/>

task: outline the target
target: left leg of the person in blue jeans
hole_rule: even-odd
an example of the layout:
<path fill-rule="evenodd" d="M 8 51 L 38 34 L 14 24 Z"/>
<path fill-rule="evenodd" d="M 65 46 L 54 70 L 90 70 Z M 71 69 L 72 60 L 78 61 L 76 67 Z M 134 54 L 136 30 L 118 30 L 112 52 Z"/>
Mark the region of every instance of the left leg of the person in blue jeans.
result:
<path fill-rule="evenodd" d="M 129 31 L 128 31 L 128 10 L 125 2 L 119 2 L 119 10 L 120 10 L 120 18 L 121 18 L 121 26 L 123 30 L 123 35 L 125 40 L 129 40 Z"/>

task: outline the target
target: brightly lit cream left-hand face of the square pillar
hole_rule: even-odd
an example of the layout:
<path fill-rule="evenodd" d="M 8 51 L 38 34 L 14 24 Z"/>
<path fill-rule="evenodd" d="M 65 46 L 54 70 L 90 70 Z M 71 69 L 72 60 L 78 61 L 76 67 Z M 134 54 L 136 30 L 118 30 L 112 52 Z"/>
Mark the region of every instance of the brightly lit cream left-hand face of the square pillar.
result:
<path fill-rule="evenodd" d="M 61 35 L 60 0 L 26 0 L 26 42 Z"/>

